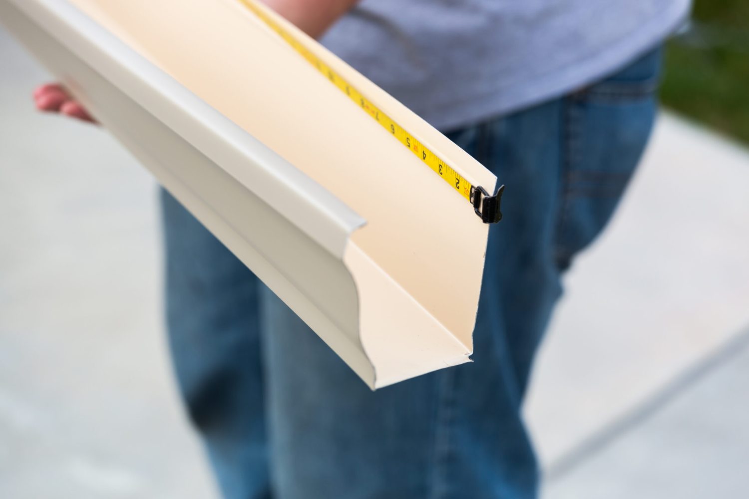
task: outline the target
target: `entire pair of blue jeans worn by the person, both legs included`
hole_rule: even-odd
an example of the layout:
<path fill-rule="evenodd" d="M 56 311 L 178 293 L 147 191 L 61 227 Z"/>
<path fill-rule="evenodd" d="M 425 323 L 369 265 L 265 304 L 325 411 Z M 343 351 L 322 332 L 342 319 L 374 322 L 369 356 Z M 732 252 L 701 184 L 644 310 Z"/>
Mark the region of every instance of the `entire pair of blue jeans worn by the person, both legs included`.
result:
<path fill-rule="evenodd" d="M 660 52 L 447 135 L 507 189 L 473 364 L 372 392 L 163 193 L 169 341 L 227 498 L 535 498 L 521 404 L 560 277 L 607 223 L 648 140 Z"/>

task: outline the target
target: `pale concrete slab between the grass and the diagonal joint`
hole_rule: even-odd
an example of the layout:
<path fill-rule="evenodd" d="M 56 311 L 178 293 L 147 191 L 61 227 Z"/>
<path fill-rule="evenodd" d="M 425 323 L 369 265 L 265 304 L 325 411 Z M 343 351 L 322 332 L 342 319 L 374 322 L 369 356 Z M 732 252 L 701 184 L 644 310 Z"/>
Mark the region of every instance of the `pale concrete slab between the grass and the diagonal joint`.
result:
<path fill-rule="evenodd" d="M 526 413 L 546 465 L 749 324 L 748 221 L 745 147 L 662 115 L 539 353 Z"/>

